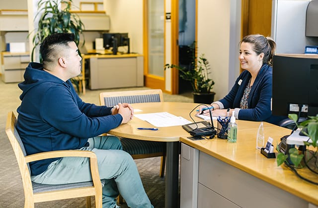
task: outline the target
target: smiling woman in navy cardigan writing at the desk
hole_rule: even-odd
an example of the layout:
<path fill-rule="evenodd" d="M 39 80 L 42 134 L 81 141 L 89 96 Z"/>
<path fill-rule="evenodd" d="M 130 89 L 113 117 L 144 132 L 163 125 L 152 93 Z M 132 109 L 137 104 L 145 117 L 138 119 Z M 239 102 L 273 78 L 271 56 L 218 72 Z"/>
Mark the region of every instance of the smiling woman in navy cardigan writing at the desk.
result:
<path fill-rule="evenodd" d="M 276 43 L 262 35 L 248 35 L 240 42 L 239 61 L 243 71 L 232 90 L 211 105 L 213 116 L 234 115 L 237 119 L 278 123 L 271 113 L 272 60 Z M 201 111 L 199 111 L 200 113 Z M 203 111 L 208 115 L 209 110 Z"/>

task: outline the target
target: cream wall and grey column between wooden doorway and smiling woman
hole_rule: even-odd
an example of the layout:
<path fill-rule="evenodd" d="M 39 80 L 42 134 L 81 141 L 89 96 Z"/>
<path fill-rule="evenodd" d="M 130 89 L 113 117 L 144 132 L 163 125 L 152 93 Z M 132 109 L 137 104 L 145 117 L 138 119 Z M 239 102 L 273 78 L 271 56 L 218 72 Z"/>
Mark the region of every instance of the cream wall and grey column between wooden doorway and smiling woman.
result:
<path fill-rule="evenodd" d="M 198 54 L 209 60 L 215 100 L 231 90 L 239 76 L 240 0 L 198 0 Z"/>

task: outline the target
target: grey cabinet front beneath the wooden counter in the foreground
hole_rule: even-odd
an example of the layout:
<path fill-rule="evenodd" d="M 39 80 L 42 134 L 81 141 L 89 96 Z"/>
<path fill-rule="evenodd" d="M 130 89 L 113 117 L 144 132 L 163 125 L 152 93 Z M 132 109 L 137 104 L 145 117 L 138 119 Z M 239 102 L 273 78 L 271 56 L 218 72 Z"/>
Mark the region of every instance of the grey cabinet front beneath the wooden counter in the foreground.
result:
<path fill-rule="evenodd" d="M 312 206 L 301 198 L 183 143 L 180 177 L 182 208 Z"/>

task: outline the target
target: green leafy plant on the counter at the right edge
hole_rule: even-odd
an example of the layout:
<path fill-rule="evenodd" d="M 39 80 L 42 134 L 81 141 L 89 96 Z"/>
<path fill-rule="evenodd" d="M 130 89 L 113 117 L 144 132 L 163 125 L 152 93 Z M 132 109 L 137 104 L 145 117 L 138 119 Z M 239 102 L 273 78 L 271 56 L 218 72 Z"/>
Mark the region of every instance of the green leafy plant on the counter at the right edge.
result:
<path fill-rule="evenodd" d="M 310 158 L 307 158 L 307 162 L 317 157 L 318 153 L 318 115 L 309 116 L 309 119 L 298 124 L 298 115 L 297 114 L 289 114 L 288 117 L 292 119 L 298 128 L 304 133 L 304 135 L 308 136 L 311 141 L 304 142 L 304 145 L 307 147 L 313 147 L 314 153 Z M 278 148 L 278 147 L 277 147 Z M 278 150 L 279 152 L 279 150 Z M 291 148 L 289 150 L 290 161 L 294 164 L 295 167 L 302 167 L 301 161 L 304 158 L 304 154 L 300 153 L 296 148 Z M 277 166 L 283 164 L 284 162 L 288 162 L 288 155 L 283 153 L 279 153 L 277 155 Z"/>

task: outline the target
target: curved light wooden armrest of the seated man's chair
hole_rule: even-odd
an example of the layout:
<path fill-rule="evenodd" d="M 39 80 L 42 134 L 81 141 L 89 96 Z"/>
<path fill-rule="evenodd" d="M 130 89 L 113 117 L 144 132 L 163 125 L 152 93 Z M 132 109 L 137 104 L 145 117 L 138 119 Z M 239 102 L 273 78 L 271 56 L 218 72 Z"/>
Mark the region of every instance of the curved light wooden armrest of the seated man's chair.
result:
<path fill-rule="evenodd" d="M 66 156 L 90 157 L 90 158 L 96 159 L 95 153 L 91 151 L 61 150 L 61 151 L 43 152 L 43 153 L 37 153 L 37 154 L 25 156 L 25 160 L 26 162 L 33 162 L 33 161 L 42 160 L 42 159 L 66 157 Z"/>

